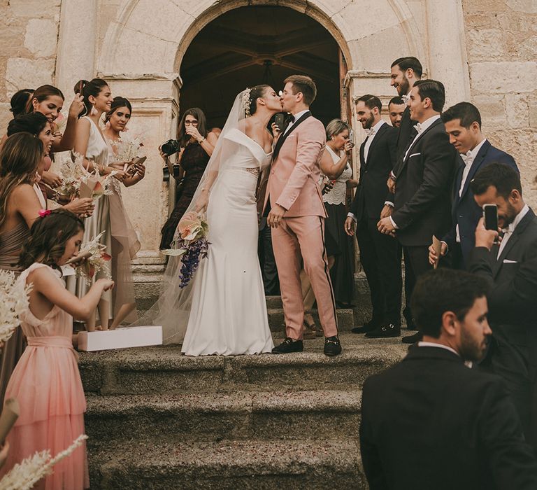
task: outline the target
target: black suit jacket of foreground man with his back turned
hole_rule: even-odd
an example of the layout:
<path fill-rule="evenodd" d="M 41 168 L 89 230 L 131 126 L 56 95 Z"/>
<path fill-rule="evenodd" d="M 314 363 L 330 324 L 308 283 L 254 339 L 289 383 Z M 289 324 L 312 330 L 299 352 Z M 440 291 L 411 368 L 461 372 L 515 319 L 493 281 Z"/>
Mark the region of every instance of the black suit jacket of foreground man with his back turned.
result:
<path fill-rule="evenodd" d="M 503 381 L 438 347 L 366 380 L 360 450 L 371 490 L 537 489 Z"/>

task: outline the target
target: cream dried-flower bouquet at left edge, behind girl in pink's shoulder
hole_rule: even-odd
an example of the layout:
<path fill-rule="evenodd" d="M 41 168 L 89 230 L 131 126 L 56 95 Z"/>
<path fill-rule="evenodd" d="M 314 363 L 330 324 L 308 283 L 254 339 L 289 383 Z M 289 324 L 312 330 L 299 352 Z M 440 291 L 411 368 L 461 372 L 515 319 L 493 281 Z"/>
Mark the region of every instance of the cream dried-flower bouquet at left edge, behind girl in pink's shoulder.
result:
<path fill-rule="evenodd" d="M 28 310 L 31 285 L 15 279 L 15 273 L 0 269 L 0 342 L 6 342 L 20 325 L 19 316 Z"/>

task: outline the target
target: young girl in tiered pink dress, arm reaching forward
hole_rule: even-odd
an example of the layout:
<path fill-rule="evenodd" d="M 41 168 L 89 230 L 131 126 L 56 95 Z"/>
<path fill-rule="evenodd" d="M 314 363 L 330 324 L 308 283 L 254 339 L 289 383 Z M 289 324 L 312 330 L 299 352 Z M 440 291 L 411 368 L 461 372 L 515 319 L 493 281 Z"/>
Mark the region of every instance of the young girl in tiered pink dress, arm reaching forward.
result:
<path fill-rule="evenodd" d="M 63 451 L 84 430 L 86 400 L 73 349 L 73 316 L 85 320 L 113 281 L 97 280 L 87 294 L 69 293 L 59 268 L 76 256 L 84 224 L 69 211 L 46 211 L 31 227 L 31 237 L 20 255 L 24 271 L 19 287 L 31 284 L 29 309 L 21 315 L 28 346 L 6 389 L 17 398 L 20 416 L 7 437 L 10 453 L 2 474 L 36 451 Z M 57 463 L 54 473 L 34 488 L 82 490 L 90 487 L 85 446 Z"/>

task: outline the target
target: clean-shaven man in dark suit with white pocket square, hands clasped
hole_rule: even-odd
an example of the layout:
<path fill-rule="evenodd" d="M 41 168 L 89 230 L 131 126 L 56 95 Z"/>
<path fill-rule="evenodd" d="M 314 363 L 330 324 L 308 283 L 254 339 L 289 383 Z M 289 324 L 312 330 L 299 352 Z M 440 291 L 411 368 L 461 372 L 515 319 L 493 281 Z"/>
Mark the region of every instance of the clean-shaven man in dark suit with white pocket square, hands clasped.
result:
<path fill-rule="evenodd" d="M 450 144 L 440 113 L 445 103 L 444 85 L 417 80 L 410 91 L 410 118 L 417 134 L 403 155 L 397 175 L 394 211 L 378 222 L 378 230 L 396 235 L 407 267 L 418 278 L 432 266 L 429 244 L 451 227 L 451 189 L 457 167 L 457 151 Z M 411 299 L 411 298 L 410 298 Z M 404 337 L 413 343 L 420 334 Z"/>

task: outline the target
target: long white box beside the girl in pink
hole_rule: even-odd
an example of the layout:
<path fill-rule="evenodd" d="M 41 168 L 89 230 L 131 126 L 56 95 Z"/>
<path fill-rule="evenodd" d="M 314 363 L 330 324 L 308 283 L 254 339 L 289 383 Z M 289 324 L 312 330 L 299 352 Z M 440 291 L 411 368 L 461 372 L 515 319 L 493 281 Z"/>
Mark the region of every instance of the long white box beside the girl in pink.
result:
<path fill-rule="evenodd" d="M 106 351 L 162 345 L 162 327 L 126 327 L 115 330 L 78 332 L 79 351 Z"/>

